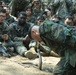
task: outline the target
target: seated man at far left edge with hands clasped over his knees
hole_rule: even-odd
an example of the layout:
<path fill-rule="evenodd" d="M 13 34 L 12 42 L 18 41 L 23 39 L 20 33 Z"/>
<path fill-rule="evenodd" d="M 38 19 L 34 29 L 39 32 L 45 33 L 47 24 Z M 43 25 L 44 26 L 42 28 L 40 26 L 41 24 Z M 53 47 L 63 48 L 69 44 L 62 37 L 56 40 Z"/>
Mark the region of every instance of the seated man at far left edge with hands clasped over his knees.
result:
<path fill-rule="evenodd" d="M 8 25 L 4 21 L 5 17 L 6 17 L 6 10 L 1 9 L 0 10 L 0 42 L 2 43 L 2 46 L 8 48 L 8 47 L 13 47 L 13 42 L 8 36 L 9 30 L 8 30 Z M 1 43 L 0 43 L 0 47 L 1 47 Z M 2 47 L 3 50 L 5 49 L 4 47 Z"/>

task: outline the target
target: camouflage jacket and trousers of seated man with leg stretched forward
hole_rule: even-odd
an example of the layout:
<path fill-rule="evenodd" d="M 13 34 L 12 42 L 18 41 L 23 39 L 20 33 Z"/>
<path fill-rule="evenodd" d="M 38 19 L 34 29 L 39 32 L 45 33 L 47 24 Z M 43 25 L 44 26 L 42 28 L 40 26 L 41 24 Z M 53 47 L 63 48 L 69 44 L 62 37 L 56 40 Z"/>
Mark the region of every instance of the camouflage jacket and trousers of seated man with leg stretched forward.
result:
<path fill-rule="evenodd" d="M 27 51 L 27 48 L 23 44 L 23 38 L 27 35 L 27 31 L 30 24 L 25 23 L 23 26 L 18 25 L 18 22 L 14 22 L 9 26 L 9 36 L 13 40 L 16 52 L 23 55 Z"/>

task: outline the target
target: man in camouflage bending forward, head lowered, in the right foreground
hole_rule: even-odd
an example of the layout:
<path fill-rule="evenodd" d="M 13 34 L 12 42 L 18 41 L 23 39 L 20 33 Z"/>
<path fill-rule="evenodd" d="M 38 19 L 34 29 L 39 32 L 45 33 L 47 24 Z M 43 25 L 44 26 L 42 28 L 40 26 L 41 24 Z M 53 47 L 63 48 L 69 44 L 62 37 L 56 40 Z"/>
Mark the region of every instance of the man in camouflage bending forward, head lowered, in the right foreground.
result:
<path fill-rule="evenodd" d="M 61 56 L 53 75 L 76 75 L 76 28 L 48 20 L 41 26 L 32 26 L 28 36 L 37 41 L 44 41 Z"/>

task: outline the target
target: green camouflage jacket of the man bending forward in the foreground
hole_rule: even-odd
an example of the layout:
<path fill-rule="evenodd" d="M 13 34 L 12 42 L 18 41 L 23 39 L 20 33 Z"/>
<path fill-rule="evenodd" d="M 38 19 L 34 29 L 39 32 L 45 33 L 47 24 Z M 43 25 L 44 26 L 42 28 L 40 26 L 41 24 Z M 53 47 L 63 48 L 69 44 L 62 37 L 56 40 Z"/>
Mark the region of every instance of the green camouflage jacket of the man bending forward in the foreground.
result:
<path fill-rule="evenodd" d="M 40 26 L 39 32 L 46 45 L 75 67 L 76 28 L 47 20 Z"/>

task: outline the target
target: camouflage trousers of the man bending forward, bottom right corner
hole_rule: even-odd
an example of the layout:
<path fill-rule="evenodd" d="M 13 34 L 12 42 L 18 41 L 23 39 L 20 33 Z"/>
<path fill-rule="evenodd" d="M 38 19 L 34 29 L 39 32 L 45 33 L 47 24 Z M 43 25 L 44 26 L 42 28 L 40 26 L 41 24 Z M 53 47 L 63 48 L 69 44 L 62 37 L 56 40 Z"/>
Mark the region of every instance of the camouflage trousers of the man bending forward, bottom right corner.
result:
<path fill-rule="evenodd" d="M 72 67 L 65 58 L 61 58 L 54 67 L 53 75 L 76 75 L 76 67 Z"/>

